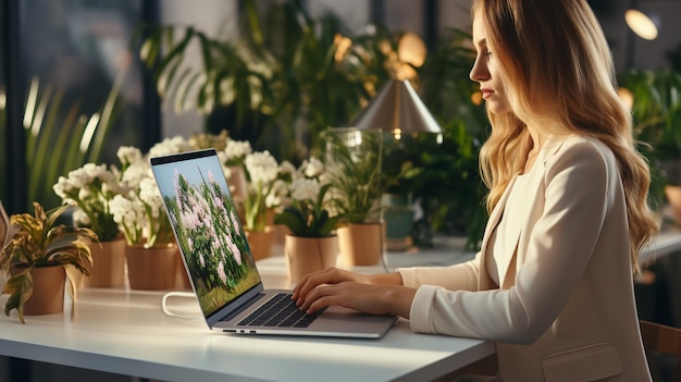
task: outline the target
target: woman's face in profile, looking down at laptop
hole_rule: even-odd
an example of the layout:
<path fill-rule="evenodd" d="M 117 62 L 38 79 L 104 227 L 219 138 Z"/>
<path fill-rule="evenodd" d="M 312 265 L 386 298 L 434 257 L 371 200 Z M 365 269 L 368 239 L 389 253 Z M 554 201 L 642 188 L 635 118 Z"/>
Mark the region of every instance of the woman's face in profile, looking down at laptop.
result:
<path fill-rule="evenodd" d="M 510 112 L 504 81 L 498 70 L 499 61 L 494 57 L 494 48 L 488 45 L 486 26 L 480 11 L 475 12 L 473 17 L 473 47 L 476 56 L 470 78 L 480 84 L 487 110 L 495 114 Z"/>

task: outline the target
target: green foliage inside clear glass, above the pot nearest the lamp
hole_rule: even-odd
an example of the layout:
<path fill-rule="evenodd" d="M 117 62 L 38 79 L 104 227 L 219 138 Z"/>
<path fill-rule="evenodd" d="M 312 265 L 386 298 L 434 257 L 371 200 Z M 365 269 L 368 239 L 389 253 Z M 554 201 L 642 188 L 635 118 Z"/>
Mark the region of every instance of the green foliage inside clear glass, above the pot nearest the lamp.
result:
<path fill-rule="evenodd" d="M 332 184 L 332 206 L 347 223 L 381 220 L 380 130 L 333 128 L 322 134 L 327 143 L 326 165 Z"/>

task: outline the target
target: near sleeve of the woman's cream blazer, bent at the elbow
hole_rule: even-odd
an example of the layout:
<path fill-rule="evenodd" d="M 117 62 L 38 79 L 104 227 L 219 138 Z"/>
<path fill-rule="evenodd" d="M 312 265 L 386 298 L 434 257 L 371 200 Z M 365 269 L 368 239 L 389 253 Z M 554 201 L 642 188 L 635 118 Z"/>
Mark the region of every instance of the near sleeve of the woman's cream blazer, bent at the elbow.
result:
<path fill-rule="evenodd" d="M 437 274 L 436 285 L 426 285 L 425 276 L 410 271 L 414 275 L 408 275 L 407 282 L 423 284 L 412 301 L 411 329 L 525 344 L 544 333 L 570 298 L 599 239 L 607 206 L 611 204 L 608 198 L 612 198 L 612 189 L 608 188 L 615 188 L 609 184 L 619 185 L 612 156 L 606 158 L 600 150 L 606 149 L 579 140 L 575 145 L 562 145 L 545 159 L 542 186 L 537 189 L 544 198 L 535 199 L 545 200 L 545 205 L 529 226 L 531 232 L 525 233 L 529 242 L 524 261 L 517 266 L 515 285 L 509 289 L 451 288 L 470 281 L 471 274 L 463 269 L 473 264 L 449 268 L 453 279 L 463 278 L 460 284 L 445 282 L 443 273 Z M 512 219 L 505 217 L 509 218 Z M 481 264 L 474 267 L 479 272 Z M 428 276 L 431 274 L 435 273 L 429 271 Z"/>

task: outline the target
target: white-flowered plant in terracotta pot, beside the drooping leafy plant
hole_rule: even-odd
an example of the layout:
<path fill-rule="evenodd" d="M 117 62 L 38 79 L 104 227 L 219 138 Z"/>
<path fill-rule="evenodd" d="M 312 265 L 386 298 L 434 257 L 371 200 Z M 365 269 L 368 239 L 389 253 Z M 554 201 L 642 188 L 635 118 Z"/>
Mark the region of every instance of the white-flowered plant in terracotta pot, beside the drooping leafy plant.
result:
<path fill-rule="evenodd" d="M 86 163 L 60 176 L 52 187 L 62 204 L 75 207 L 73 221 L 91 229 L 99 237 L 92 246 L 91 276 L 85 284 L 91 287 L 123 287 L 125 285 L 125 238 L 113 220 L 109 206 L 115 195 L 123 193 L 119 171 L 106 164 Z"/>

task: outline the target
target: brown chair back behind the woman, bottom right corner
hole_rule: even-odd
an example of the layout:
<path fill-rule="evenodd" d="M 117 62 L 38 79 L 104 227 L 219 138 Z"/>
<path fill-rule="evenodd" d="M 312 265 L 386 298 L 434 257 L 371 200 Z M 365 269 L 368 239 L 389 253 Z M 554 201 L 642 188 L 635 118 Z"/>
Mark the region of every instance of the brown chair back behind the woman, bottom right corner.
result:
<path fill-rule="evenodd" d="M 639 323 L 651 372 L 666 381 L 681 382 L 681 329 L 645 320 Z M 672 365 L 665 362 L 670 359 Z"/>

